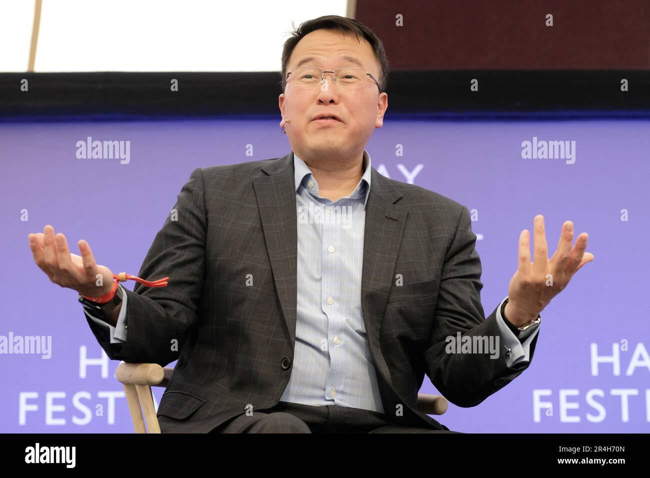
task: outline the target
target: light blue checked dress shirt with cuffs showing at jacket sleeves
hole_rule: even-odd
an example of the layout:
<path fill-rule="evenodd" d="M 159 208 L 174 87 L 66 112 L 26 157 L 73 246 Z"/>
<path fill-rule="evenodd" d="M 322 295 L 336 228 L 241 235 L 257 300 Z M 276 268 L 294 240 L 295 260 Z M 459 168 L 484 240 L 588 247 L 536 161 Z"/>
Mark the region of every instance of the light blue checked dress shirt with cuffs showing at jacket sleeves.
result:
<path fill-rule="evenodd" d="M 383 413 L 376 372 L 361 311 L 365 206 L 370 192 L 370 155 L 363 152 L 363 176 L 356 189 L 332 202 L 318 194 L 318 181 L 294 154 L 298 219 L 298 297 L 293 367 L 280 401 L 339 405 Z M 122 287 L 122 285 L 119 285 Z M 497 308 L 497 324 L 508 367 L 530 360 L 534 325 L 517 338 Z M 127 295 L 110 343 L 126 341 Z"/>

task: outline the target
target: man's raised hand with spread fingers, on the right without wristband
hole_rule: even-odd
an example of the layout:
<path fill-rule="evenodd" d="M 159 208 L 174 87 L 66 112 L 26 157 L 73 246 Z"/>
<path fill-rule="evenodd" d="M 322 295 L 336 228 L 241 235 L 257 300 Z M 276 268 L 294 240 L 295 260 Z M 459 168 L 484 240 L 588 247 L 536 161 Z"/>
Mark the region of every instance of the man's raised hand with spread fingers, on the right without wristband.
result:
<path fill-rule="evenodd" d="M 593 254 L 585 252 L 588 234 L 578 235 L 573 243 L 573 222 L 562 225 L 558 250 L 552 258 L 547 257 L 548 246 L 544 230 L 544 217 L 534 219 L 534 262 L 530 261 L 530 233 L 523 230 L 519 235 L 519 268 L 508 286 L 508 303 L 504 310 L 508 321 L 515 326 L 536 319 L 551 299 L 569 284 L 580 267 L 593 261 Z"/>

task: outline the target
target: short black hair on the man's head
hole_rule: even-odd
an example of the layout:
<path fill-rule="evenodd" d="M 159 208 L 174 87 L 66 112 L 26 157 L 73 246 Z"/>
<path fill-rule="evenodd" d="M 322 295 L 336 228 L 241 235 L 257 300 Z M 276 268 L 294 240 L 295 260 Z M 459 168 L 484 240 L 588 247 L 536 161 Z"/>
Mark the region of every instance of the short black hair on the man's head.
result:
<path fill-rule="evenodd" d="M 386 87 L 388 86 L 389 61 L 386 57 L 386 52 L 383 49 L 382 40 L 380 40 L 367 26 L 363 25 L 363 23 L 358 20 L 354 20 L 354 18 L 346 18 L 338 15 L 326 15 L 300 23 L 300 26 L 297 29 L 294 28 L 294 31 L 291 32 L 291 37 L 289 37 L 285 42 L 282 49 L 282 70 L 280 72 L 280 75 L 282 76 L 280 85 L 283 92 L 285 86 L 287 86 L 287 64 L 289 63 L 289 58 L 291 58 L 291 53 L 298 42 L 300 42 L 306 34 L 316 30 L 338 30 L 343 33 L 343 35 L 345 35 L 346 32 L 352 32 L 356 35 L 357 40 L 359 40 L 359 37 L 363 36 L 363 38 L 369 42 L 372 51 L 374 51 L 374 56 L 379 62 L 381 70 L 380 77 L 377 79 L 379 90 L 380 92 L 386 90 Z"/>

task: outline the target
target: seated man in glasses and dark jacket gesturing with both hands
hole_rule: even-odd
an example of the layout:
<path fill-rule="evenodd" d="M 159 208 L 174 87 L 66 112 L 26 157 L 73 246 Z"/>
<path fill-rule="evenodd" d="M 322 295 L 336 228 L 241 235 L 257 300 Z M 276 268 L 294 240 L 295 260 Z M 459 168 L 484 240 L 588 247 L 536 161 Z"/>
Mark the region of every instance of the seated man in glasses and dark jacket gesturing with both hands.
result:
<path fill-rule="evenodd" d="M 448 431 L 417 410 L 424 374 L 464 407 L 521 374 L 539 312 L 593 259 L 586 234 L 571 250 L 565 222 L 549 260 L 536 217 L 534 261 L 524 230 L 508 297 L 486 319 L 467 207 L 383 177 L 364 149 L 388 105 L 380 40 L 322 17 L 282 62 L 292 152 L 192 172 L 138 274 L 167 285 L 116 287 L 85 241 L 70 254 L 51 226 L 29 236 L 34 260 L 102 297 L 103 312 L 85 313 L 111 359 L 178 360 L 162 432 Z M 499 347 L 459 353 L 460 337 Z"/>

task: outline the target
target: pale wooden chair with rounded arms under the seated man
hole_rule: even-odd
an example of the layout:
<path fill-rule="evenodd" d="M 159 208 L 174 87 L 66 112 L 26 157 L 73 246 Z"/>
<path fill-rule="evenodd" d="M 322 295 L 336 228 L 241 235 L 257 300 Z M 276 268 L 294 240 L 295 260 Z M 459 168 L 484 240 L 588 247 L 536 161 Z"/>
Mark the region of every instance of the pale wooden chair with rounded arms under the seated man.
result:
<path fill-rule="evenodd" d="M 151 387 L 166 387 L 174 369 L 161 367 L 158 364 L 129 364 L 118 365 L 115 376 L 124 386 L 131 420 L 136 433 L 160 433 L 158 417 L 153 406 Z M 447 399 L 442 395 L 419 393 L 417 409 L 428 415 L 442 415 L 447 412 Z M 144 419 L 143 419 L 144 414 Z M 145 427 L 146 425 L 146 427 Z"/>

